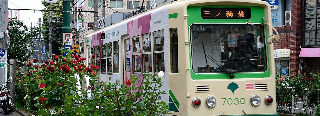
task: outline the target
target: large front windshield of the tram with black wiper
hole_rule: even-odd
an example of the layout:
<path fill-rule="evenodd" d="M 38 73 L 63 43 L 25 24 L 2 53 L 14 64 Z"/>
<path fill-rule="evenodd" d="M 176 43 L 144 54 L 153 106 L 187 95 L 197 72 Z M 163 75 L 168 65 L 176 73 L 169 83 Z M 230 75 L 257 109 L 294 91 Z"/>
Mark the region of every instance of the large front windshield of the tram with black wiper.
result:
<path fill-rule="evenodd" d="M 190 38 L 196 73 L 224 72 L 222 68 L 230 72 L 267 70 L 264 28 L 260 24 L 193 24 Z"/>

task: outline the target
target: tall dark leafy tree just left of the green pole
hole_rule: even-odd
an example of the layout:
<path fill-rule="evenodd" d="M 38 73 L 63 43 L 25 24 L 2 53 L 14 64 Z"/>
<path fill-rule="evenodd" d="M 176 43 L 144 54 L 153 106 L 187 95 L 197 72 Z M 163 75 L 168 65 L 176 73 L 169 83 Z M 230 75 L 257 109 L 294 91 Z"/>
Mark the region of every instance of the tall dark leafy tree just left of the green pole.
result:
<path fill-rule="evenodd" d="M 42 1 L 42 4 L 44 5 L 45 10 L 49 10 L 49 3 L 46 3 Z M 51 4 L 51 9 L 52 10 L 62 10 L 62 0 L 59 0 L 57 3 L 52 3 Z M 42 28 L 44 29 L 43 31 L 43 38 L 44 42 L 47 47 L 49 47 L 49 21 L 50 21 L 50 15 L 49 11 L 43 11 L 43 23 L 42 23 Z M 60 48 L 58 47 L 59 41 L 62 41 L 62 12 L 54 12 L 52 11 L 52 54 L 60 54 Z"/>

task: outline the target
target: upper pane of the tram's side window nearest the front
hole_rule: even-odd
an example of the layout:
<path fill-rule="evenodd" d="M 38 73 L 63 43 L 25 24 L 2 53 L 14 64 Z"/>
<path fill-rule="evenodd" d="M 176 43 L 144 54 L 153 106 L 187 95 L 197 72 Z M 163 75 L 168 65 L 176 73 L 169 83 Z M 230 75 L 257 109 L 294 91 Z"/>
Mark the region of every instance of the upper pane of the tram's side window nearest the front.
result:
<path fill-rule="evenodd" d="M 153 39 L 154 51 L 162 51 L 164 45 L 163 30 L 154 32 Z"/>

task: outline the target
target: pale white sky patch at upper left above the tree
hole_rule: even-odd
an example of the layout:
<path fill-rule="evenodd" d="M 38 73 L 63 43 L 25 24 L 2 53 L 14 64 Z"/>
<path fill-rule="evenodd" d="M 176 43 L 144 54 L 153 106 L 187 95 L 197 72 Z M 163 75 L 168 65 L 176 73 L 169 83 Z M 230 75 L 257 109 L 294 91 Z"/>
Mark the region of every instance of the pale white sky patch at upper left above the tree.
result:
<path fill-rule="evenodd" d="M 45 7 L 41 1 L 42 0 L 9 0 L 8 8 L 42 10 Z M 38 18 L 43 19 L 41 11 L 20 10 L 20 21 L 23 21 L 28 27 L 31 26 L 31 23 L 38 23 Z"/>

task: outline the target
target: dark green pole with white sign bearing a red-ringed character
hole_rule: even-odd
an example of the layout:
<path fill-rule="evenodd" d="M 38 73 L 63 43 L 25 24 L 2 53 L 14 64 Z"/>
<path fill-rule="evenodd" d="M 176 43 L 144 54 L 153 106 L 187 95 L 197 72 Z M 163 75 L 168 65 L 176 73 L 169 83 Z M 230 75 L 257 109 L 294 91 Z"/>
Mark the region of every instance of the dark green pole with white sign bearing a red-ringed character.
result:
<path fill-rule="evenodd" d="M 71 47 L 71 0 L 63 0 L 63 26 L 62 26 L 62 41 L 66 49 L 72 49 Z M 67 43 L 66 43 L 67 42 Z M 66 43 L 66 44 L 65 44 Z"/>

